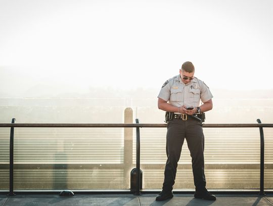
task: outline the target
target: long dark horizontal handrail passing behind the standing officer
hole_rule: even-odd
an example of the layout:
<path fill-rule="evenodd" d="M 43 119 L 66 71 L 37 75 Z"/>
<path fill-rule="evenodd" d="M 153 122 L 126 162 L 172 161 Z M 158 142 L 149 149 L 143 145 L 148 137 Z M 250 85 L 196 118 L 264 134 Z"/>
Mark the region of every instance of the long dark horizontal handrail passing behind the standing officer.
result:
<path fill-rule="evenodd" d="M 166 123 L 0 123 L 0 128 L 165 128 Z M 273 128 L 273 123 L 208 123 L 203 128 Z"/>

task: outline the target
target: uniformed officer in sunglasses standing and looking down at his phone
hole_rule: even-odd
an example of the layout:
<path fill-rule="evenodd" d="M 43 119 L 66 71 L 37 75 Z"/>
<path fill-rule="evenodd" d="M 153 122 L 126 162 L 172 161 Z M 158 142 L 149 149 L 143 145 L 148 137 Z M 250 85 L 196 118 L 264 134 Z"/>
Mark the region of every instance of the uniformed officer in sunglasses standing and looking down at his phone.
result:
<path fill-rule="evenodd" d="M 192 62 L 183 63 L 176 75 L 167 80 L 158 95 L 158 108 L 168 114 L 166 153 L 162 191 L 156 200 L 173 197 L 172 188 L 176 175 L 177 162 L 186 139 L 191 157 L 195 184 L 195 198 L 215 200 L 206 189 L 204 174 L 204 134 L 201 113 L 212 109 L 212 94 L 209 88 L 194 76 Z M 203 104 L 200 106 L 200 100 Z M 197 118 L 196 118 L 197 117 Z"/>

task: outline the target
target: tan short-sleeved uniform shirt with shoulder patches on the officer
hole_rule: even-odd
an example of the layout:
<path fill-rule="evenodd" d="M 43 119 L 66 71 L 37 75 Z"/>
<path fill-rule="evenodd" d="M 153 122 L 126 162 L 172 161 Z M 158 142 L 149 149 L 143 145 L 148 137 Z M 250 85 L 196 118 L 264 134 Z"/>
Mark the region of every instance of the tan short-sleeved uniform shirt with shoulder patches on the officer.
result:
<path fill-rule="evenodd" d="M 212 98 L 209 88 L 203 81 L 194 77 L 189 84 L 185 85 L 180 78 L 176 75 L 167 80 L 162 86 L 158 98 L 161 98 L 171 105 L 176 107 L 180 106 L 200 106 L 200 100 L 206 102 Z"/>

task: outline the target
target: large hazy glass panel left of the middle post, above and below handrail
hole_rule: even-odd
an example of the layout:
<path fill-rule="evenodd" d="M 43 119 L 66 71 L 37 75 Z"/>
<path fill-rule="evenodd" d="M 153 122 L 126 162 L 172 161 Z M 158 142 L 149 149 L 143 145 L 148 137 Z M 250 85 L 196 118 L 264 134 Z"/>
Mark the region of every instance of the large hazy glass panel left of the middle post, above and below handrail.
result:
<path fill-rule="evenodd" d="M 123 123 L 125 104 L 124 98 L 0 98 L 0 122 Z M 132 152 L 124 144 L 131 138 L 124 131 L 15 128 L 14 189 L 129 188 Z M 9 189 L 10 128 L 1 128 L 0 138 L 0 189 Z"/>

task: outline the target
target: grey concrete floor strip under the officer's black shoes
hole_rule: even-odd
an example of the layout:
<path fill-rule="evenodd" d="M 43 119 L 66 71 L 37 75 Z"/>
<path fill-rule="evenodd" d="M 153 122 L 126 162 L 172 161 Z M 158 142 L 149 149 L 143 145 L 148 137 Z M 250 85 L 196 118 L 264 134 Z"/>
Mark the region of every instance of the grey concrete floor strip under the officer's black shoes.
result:
<path fill-rule="evenodd" d="M 76 194 L 72 197 L 60 197 L 54 194 L 27 194 L 6 196 L 0 195 L 0 206 L 34 206 L 34 205 L 98 205 L 98 206 L 120 206 L 120 205 L 136 205 L 136 206 L 156 206 L 156 205 L 238 205 L 238 206 L 262 206 L 273 205 L 273 195 L 263 197 L 257 195 L 216 195 L 216 201 L 208 201 L 194 198 L 193 194 L 174 194 L 174 197 L 165 201 L 155 201 L 157 194 L 144 194 L 134 196 L 132 194 L 92 194 L 83 195 Z"/>

